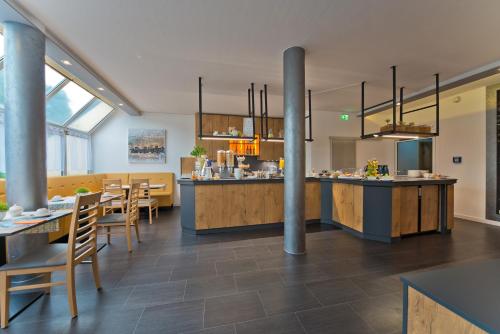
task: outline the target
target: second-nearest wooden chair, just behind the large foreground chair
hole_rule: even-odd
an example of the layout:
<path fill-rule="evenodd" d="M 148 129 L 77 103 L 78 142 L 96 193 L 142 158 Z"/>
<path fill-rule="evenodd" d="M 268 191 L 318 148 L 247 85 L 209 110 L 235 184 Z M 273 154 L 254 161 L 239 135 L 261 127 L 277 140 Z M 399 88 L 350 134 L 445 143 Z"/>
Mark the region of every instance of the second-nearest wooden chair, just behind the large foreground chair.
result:
<path fill-rule="evenodd" d="M 108 243 L 111 243 L 112 235 L 125 234 L 129 252 L 132 252 L 132 235 L 130 232 L 132 227 L 135 228 L 137 242 L 141 242 L 139 237 L 139 187 L 139 183 L 132 183 L 130 185 L 126 213 L 107 214 L 97 220 L 97 226 L 105 229 L 104 233 L 99 231 L 99 234 L 105 234 L 107 236 Z M 116 229 L 124 230 L 113 232 L 113 229 L 115 229 L 115 231 Z"/>

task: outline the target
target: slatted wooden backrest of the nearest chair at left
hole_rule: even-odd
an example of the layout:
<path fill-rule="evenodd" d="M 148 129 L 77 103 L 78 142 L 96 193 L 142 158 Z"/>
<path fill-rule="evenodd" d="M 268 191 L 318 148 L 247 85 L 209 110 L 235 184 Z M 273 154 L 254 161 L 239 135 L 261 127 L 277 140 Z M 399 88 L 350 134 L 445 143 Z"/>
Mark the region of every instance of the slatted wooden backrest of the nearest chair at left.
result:
<path fill-rule="evenodd" d="M 68 238 L 67 263 L 71 266 L 97 251 L 97 216 L 100 200 L 100 192 L 76 196 Z M 87 238 L 81 238 L 83 235 Z"/>

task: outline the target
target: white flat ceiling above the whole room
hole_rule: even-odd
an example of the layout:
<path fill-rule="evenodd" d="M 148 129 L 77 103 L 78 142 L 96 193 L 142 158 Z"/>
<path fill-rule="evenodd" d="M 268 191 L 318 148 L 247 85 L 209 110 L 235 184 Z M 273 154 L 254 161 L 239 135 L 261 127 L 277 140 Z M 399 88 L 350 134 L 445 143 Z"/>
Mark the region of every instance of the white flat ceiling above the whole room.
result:
<path fill-rule="evenodd" d="M 307 88 L 333 89 L 313 110 L 358 110 L 362 80 L 368 104 L 389 99 L 393 64 L 410 93 L 500 59 L 498 0 L 17 2 L 145 112 L 196 112 L 202 76 L 206 111 L 245 113 L 255 82 L 281 114 L 291 46 L 306 49 Z"/>

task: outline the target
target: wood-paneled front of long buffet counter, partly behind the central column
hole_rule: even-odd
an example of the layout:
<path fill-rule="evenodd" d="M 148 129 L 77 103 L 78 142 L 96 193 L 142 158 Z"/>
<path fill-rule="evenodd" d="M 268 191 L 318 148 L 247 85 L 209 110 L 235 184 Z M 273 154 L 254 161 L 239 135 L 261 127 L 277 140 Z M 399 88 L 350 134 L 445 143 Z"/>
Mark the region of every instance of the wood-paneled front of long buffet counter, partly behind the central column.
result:
<path fill-rule="evenodd" d="M 282 223 L 283 179 L 180 179 L 181 224 L 196 233 Z M 305 218 L 319 222 L 321 189 L 318 179 L 306 179 Z"/>

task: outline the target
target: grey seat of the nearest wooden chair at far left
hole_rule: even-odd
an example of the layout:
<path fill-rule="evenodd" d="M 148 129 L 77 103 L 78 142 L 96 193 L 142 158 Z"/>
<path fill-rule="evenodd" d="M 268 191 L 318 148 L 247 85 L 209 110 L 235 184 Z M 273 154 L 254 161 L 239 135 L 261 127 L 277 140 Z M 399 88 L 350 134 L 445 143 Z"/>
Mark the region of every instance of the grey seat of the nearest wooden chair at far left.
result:
<path fill-rule="evenodd" d="M 0 271 L 66 265 L 67 244 L 45 245 L 0 267 Z"/>

